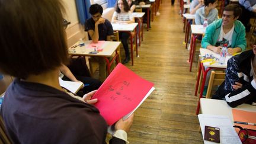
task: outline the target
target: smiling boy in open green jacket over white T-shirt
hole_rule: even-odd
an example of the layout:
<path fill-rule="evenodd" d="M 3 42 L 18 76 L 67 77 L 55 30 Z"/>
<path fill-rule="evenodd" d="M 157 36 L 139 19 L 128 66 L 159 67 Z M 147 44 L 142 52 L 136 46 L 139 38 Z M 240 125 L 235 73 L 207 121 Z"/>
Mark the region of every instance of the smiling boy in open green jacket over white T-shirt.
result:
<path fill-rule="evenodd" d="M 206 34 L 201 41 L 201 47 L 220 53 L 222 44 L 228 44 L 228 53 L 244 51 L 247 46 L 245 27 L 238 21 L 241 8 L 237 4 L 224 8 L 222 19 L 214 21 L 206 28 Z"/>

